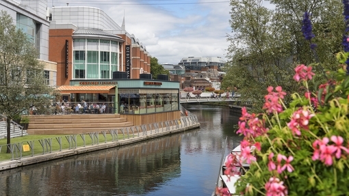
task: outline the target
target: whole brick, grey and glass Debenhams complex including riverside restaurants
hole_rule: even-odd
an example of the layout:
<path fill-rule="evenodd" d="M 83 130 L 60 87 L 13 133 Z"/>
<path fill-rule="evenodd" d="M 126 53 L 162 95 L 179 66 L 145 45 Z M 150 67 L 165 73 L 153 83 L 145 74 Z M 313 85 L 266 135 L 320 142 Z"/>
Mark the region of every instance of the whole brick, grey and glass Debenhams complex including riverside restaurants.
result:
<path fill-rule="evenodd" d="M 0 0 L 0 8 L 27 32 L 38 58 L 53 65 L 49 76 L 61 100 L 103 102 L 107 111 L 122 115 L 168 113 L 157 120 L 179 119 L 179 82 L 151 78 L 151 55 L 126 31 L 125 18 L 120 26 L 99 8 L 48 8 L 47 1 Z"/>

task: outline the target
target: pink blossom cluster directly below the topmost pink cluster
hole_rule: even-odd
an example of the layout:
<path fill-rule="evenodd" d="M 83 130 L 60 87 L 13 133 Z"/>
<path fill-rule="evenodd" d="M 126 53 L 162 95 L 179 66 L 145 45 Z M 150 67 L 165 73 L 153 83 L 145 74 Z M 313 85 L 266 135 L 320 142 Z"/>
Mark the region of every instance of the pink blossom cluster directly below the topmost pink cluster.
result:
<path fill-rule="evenodd" d="M 309 109 L 298 109 L 292 114 L 291 121 L 287 126 L 292 130 L 293 135 L 300 135 L 300 129 L 309 130 L 309 120 L 315 114 L 311 113 Z"/>

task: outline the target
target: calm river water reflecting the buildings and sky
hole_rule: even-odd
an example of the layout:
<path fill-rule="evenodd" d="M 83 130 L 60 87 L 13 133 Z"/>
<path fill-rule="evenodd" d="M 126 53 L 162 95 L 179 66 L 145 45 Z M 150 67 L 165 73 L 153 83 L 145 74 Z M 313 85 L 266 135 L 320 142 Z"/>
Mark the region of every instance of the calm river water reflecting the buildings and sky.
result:
<path fill-rule="evenodd" d="M 242 139 L 233 129 L 238 117 L 228 107 L 183 107 L 201 128 L 2 171 L 0 195 L 211 195 L 222 151 Z"/>

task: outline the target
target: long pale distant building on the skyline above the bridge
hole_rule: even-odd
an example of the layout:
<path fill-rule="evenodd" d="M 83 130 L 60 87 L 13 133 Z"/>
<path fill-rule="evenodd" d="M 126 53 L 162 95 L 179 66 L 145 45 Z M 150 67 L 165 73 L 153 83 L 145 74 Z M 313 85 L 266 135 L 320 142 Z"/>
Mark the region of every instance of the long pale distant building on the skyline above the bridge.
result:
<path fill-rule="evenodd" d="M 209 68 L 211 66 L 217 66 L 218 70 L 224 67 L 224 59 L 221 57 L 188 57 L 181 59 L 179 66 L 184 66 L 185 70 L 199 70 L 202 68 Z"/>

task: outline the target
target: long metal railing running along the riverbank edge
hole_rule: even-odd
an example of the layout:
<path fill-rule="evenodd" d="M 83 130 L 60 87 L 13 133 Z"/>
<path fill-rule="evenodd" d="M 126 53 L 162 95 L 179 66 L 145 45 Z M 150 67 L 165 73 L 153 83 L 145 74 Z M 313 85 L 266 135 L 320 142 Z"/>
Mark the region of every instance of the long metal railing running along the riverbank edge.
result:
<path fill-rule="evenodd" d="M 170 132 L 171 130 L 195 124 L 198 124 L 196 115 L 188 115 L 181 117 L 179 120 L 10 143 L 8 145 L 0 145 L 0 163 L 7 160 L 21 160 L 25 157 L 50 154 L 52 152 L 74 150 L 88 145 L 98 145 L 99 143 L 112 143 L 158 132 Z"/>

